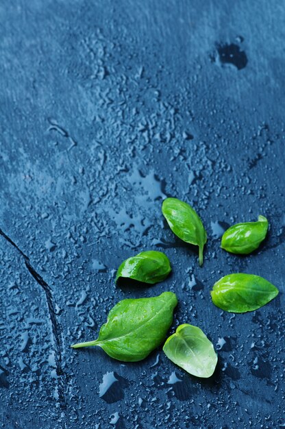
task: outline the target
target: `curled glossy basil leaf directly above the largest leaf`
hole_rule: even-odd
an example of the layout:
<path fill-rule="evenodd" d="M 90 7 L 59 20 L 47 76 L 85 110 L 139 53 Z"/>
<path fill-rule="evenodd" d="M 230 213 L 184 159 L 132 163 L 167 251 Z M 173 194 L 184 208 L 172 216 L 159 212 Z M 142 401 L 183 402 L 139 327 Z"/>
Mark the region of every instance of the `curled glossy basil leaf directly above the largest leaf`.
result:
<path fill-rule="evenodd" d="M 124 260 L 116 273 L 116 281 L 123 277 L 154 284 L 162 282 L 170 271 L 169 258 L 162 252 L 149 250 Z"/>

